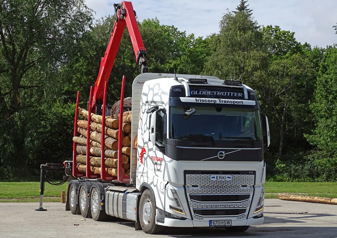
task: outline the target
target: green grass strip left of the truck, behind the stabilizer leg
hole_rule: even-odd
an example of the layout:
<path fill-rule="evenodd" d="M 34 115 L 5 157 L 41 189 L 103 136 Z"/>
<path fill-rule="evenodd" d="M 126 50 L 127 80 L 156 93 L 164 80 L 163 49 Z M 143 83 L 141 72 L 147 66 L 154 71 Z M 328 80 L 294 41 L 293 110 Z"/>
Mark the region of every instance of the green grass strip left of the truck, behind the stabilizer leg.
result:
<path fill-rule="evenodd" d="M 43 202 L 61 202 L 68 182 L 55 186 L 45 183 Z M 0 202 L 39 202 L 40 182 L 0 182 Z"/>

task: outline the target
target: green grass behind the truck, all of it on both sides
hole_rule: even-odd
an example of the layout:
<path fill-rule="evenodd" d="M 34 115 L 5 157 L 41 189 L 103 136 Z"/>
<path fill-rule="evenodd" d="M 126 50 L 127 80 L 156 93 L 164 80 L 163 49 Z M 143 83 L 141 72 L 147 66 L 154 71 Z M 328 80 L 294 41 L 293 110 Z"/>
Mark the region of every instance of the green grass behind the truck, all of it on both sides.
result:
<path fill-rule="evenodd" d="M 45 183 L 43 202 L 61 202 L 61 191 L 68 182 L 55 186 Z M 329 182 L 266 182 L 265 198 L 279 193 L 337 198 L 337 183 Z M 0 182 L 0 202 L 39 202 L 40 182 Z"/>

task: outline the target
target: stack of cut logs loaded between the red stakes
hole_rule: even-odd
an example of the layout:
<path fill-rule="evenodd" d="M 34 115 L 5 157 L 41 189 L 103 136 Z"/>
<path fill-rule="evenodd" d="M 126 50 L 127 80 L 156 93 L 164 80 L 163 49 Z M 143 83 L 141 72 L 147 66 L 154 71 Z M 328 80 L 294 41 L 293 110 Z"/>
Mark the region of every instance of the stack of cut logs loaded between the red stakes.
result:
<path fill-rule="evenodd" d="M 76 146 L 76 162 L 79 172 L 86 173 L 87 153 L 87 130 L 88 111 L 78 108 L 79 115 L 84 120 L 78 120 L 78 133 L 80 136 L 72 138 Z M 118 175 L 118 132 L 119 121 L 113 117 L 105 118 L 105 140 L 104 140 L 104 164 L 105 171 L 111 176 Z M 122 170 L 125 175 L 130 176 L 131 155 L 131 111 L 123 113 L 122 125 Z M 102 138 L 102 116 L 91 113 L 90 124 L 90 169 L 95 174 L 101 174 L 101 138 Z"/>

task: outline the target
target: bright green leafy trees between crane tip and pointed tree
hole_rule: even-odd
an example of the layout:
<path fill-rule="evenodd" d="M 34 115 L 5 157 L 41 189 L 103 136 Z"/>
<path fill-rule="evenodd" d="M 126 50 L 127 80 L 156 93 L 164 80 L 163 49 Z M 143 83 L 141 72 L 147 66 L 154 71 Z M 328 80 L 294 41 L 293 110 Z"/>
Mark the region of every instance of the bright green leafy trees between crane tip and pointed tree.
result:
<path fill-rule="evenodd" d="M 174 26 L 160 25 L 147 19 L 140 26 L 147 50 L 149 72 L 200 74 L 209 55 L 208 39 L 179 31 Z"/>

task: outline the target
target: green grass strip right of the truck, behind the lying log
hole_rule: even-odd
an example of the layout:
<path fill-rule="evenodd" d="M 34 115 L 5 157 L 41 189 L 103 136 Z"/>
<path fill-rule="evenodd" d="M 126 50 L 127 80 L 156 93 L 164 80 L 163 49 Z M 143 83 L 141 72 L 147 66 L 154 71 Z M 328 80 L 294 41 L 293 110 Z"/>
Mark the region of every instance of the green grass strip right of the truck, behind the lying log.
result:
<path fill-rule="evenodd" d="M 337 183 L 333 182 L 266 182 L 265 198 L 277 198 L 279 193 L 337 198 Z"/>

